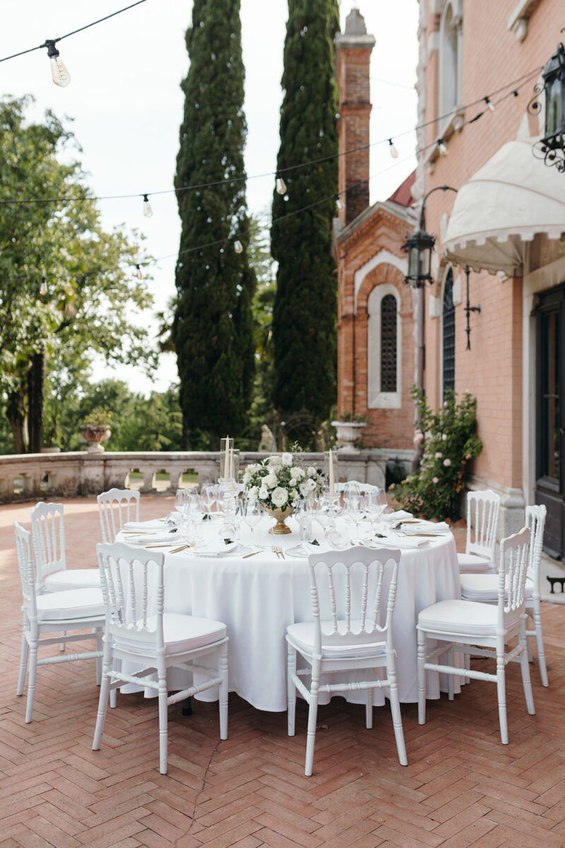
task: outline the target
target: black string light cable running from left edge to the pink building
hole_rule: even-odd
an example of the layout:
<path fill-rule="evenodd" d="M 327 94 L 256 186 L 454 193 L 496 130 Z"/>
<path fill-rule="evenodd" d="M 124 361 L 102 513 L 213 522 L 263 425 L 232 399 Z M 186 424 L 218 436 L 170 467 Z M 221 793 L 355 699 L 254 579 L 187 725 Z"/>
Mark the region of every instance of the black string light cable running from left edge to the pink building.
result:
<path fill-rule="evenodd" d="M 146 2 L 146 0 L 138 0 L 138 2 L 134 3 L 133 5 L 138 5 L 139 3 L 145 3 L 145 2 Z M 125 7 L 125 8 L 131 8 L 131 7 L 128 6 L 128 7 Z M 125 9 L 121 9 L 120 11 L 125 11 Z M 114 14 L 119 14 L 119 12 L 114 12 Z M 108 17 L 110 17 L 110 16 L 108 16 Z M 100 20 L 106 20 L 106 19 L 102 18 Z M 91 24 L 91 25 L 93 25 L 93 24 Z M 89 26 L 91 26 L 91 25 L 89 25 Z M 69 33 L 69 35 L 70 34 L 71 33 Z M 62 36 L 62 37 L 66 37 L 66 36 Z M 33 48 L 33 49 L 36 49 L 36 48 Z M 19 54 L 14 54 L 14 55 L 19 55 Z M 10 57 L 7 57 L 7 58 L 10 58 Z M 0 61 L 3 61 L 3 60 L 0 60 Z M 481 98 L 477 98 L 476 100 L 472 101 L 471 103 L 467 103 L 464 106 L 459 107 L 457 110 L 459 110 L 459 109 L 461 109 L 461 110 L 471 109 L 473 106 L 476 106 L 479 103 L 486 103 L 487 100 L 489 101 L 490 105 L 496 105 L 498 103 L 501 103 L 503 100 L 506 100 L 509 97 L 513 96 L 514 98 L 516 98 L 516 97 L 518 97 L 519 89 L 522 88 L 523 86 L 528 85 L 529 81 L 533 77 L 539 75 L 540 70 L 541 70 L 541 66 L 535 68 L 534 70 L 530 70 L 527 74 L 523 74 L 522 76 L 518 77 L 517 80 L 513 80 L 512 82 L 508 82 L 504 86 L 501 86 L 498 89 L 496 89 L 496 91 L 490 92 L 490 94 L 485 95 Z M 495 98 L 496 95 L 500 94 L 501 92 L 507 91 L 508 88 L 510 88 L 511 90 L 509 92 L 507 92 L 506 95 L 504 95 L 502 98 L 499 98 L 496 101 L 496 103 L 492 102 L 492 98 Z M 490 106 L 488 104 L 486 104 L 486 108 L 483 109 L 483 111 L 479 112 L 479 114 L 476 114 L 474 116 L 474 118 L 471 118 L 469 120 L 464 121 L 462 126 L 461 126 L 461 129 L 463 129 L 463 126 L 466 126 L 468 124 L 473 124 L 474 122 L 479 120 L 479 118 L 481 118 L 485 114 L 485 111 L 487 111 L 489 109 L 490 109 Z M 299 169 L 302 169 L 302 168 L 307 168 L 311 165 L 321 165 L 322 163 L 328 162 L 332 159 L 337 159 L 341 156 L 348 156 L 348 155 L 351 155 L 352 153 L 358 153 L 359 151 L 366 150 L 368 148 L 378 147 L 379 145 L 384 145 L 384 144 L 388 144 L 389 149 L 391 151 L 391 155 L 394 157 L 394 152 L 396 151 L 396 145 L 394 143 L 395 139 L 397 140 L 399 138 L 405 137 L 405 136 L 411 134 L 414 131 L 423 130 L 428 126 L 432 126 L 432 125 L 438 123 L 438 121 L 446 120 L 447 118 L 450 118 L 453 114 L 455 114 L 455 111 L 456 111 L 455 109 L 452 109 L 451 112 L 439 115 L 437 118 L 433 118 L 433 119 L 430 119 L 428 121 L 424 121 L 424 123 L 418 124 L 417 126 L 413 127 L 410 130 L 398 132 L 398 133 L 394 134 L 393 136 L 387 136 L 385 138 L 379 139 L 379 141 L 377 141 L 377 142 L 370 142 L 368 144 L 362 144 L 362 145 L 358 146 L 357 148 L 350 148 L 348 150 L 342 150 L 340 153 L 332 153 L 330 156 L 319 157 L 319 159 L 309 159 L 307 162 L 302 162 L 298 165 L 287 165 L 284 168 L 278 168 L 275 171 L 267 171 L 263 174 L 255 174 L 255 175 L 252 175 L 252 176 L 232 177 L 229 180 L 215 180 L 215 181 L 210 181 L 210 182 L 194 183 L 190 186 L 180 186 L 180 187 L 177 187 L 177 188 L 162 189 L 162 190 L 156 191 L 156 192 L 133 192 L 133 193 L 129 193 L 129 194 L 107 194 L 107 195 L 100 195 L 100 196 L 97 196 L 97 197 L 85 196 L 85 197 L 81 197 L 81 198 L 68 198 L 68 197 L 60 197 L 60 198 L 8 198 L 8 199 L 0 199 L 0 206 L 5 206 L 5 205 L 9 205 L 9 204 L 14 204 L 14 205 L 16 205 L 16 204 L 54 204 L 54 203 L 65 203 L 65 202 L 70 202 L 70 201 L 80 202 L 80 201 L 85 201 L 85 200 L 97 201 L 97 200 L 125 200 L 125 199 L 130 199 L 130 198 L 142 198 L 143 205 L 144 205 L 144 214 L 147 217 L 149 217 L 150 215 L 152 215 L 152 211 L 150 212 L 149 215 L 147 215 L 148 198 L 149 197 L 157 197 L 158 195 L 161 195 L 161 194 L 173 194 L 173 193 L 177 194 L 177 193 L 180 193 L 180 192 L 195 191 L 195 190 L 200 190 L 200 189 L 205 189 L 205 188 L 213 188 L 213 187 L 216 187 L 216 186 L 233 185 L 237 182 L 263 179 L 267 176 L 269 176 L 269 177 L 275 176 L 277 182 L 279 182 L 280 180 L 282 180 L 282 175 L 288 174 L 290 171 L 299 170 Z M 445 144 L 446 139 L 438 138 L 434 142 L 427 145 L 427 148 L 433 147 L 437 142 L 442 142 L 442 143 Z M 417 150 L 416 154 L 418 155 L 418 153 L 421 153 L 421 150 Z M 284 180 L 283 180 L 283 182 L 284 182 Z M 279 182 L 278 188 L 282 188 L 282 184 L 280 182 Z M 286 186 L 285 186 L 285 188 L 286 188 Z M 149 206 L 149 209 L 151 209 L 150 206 Z"/>

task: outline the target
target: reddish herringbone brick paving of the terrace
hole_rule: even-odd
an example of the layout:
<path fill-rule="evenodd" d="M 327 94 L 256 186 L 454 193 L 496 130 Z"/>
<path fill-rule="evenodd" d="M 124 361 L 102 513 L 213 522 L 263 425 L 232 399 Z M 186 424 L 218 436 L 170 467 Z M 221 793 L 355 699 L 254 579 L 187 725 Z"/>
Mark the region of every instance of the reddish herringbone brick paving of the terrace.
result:
<path fill-rule="evenodd" d="M 29 526 L 30 506 L 0 510 L 0 848 L 565 845 L 565 605 L 543 605 L 550 687 L 534 662 L 535 716 L 518 665 L 507 671 L 507 746 L 492 683 L 474 681 L 452 703 L 446 695 L 429 701 L 424 727 L 416 706 L 402 705 L 408 767 L 398 764 L 387 707 L 375 709 L 367 730 L 363 707 L 336 698 L 320 708 L 306 778 L 304 704 L 289 739 L 284 713 L 230 695 L 224 742 L 215 705 L 196 702 L 191 717 L 169 708 L 169 774 L 161 775 L 157 707 L 142 695 L 119 696 L 102 750 L 91 750 L 92 662 L 40 668 L 34 721 L 24 722 L 25 700 L 14 695 L 20 589 L 12 526 Z M 141 497 L 141 517 L 171 508 L 169 496 Z M 69 565 L 94 566 L 96 499 L 65 501 L 65 516 Z M 463 549 L 463 534 L 457 544 Z"/>

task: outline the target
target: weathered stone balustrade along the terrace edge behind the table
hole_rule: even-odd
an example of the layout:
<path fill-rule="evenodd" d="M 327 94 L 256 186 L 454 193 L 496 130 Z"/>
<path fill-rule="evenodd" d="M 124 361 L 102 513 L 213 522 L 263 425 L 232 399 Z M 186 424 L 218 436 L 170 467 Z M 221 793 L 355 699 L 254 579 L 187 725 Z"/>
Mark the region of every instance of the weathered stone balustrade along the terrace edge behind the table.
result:
<path fill-rule="evenodd" d="M 409 469 L 412 451 L 363 449 L 339 453 L 341 480 L 385 485 L 387 460 L 399 460 Z M 250 462 L 264 459 L 268 454 L 240 455 L 240 469 Z M 323 466 L 323 455 L 304 454 L 304 459 Z M 87 450 L 69 453 L 18 454 L 0 456 L 0 500 L 4 503 L 26 496 L 73 496 L 100 494 L 108 488 L 133 488 L 130 474 L 139 471 L 143 481 L 135 488 L 141 492 L 163 491 L 157 487 L 157 475 L 169 475 L 166 491 L 178 488 L 183 473 L 193 471 L 198 484 L 216 483 L 219 477 L 219 451 L 104 451 Z"/>

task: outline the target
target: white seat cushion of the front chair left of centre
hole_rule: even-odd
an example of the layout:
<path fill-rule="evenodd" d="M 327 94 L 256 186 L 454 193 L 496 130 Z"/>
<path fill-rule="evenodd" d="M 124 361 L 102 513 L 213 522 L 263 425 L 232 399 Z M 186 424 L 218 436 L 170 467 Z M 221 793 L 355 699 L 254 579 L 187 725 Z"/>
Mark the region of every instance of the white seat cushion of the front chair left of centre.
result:
<path fill-rule="evenodd" d="M 157 616 L 147 618 L 147 628 L 154 631 L 157 627 Z M 163 613 L 163 639 L 166 654 L 181 654 L 186 650 L 195 650 L 204 645 L 218 642 L 225 638 L 225 624 L 214 622 L 212 618 L 197 618 L 183 616 L 177 612 Z M 116 636 L 117 648 L 124 648 L 137 653 L 144 653 L 152 642 L 147 639 L 120 639 Z"/>

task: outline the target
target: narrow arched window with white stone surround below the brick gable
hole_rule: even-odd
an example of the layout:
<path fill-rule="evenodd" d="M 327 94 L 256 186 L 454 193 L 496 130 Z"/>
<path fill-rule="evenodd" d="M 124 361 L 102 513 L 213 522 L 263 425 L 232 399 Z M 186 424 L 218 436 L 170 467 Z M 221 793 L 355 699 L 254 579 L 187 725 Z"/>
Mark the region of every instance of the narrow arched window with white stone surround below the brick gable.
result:
<path fill-rule="evenodd" d="M 369 409 L 400 409 L 402 323 L 400 295 L 389 283 L 368 296 L 367 399 Z"/>

